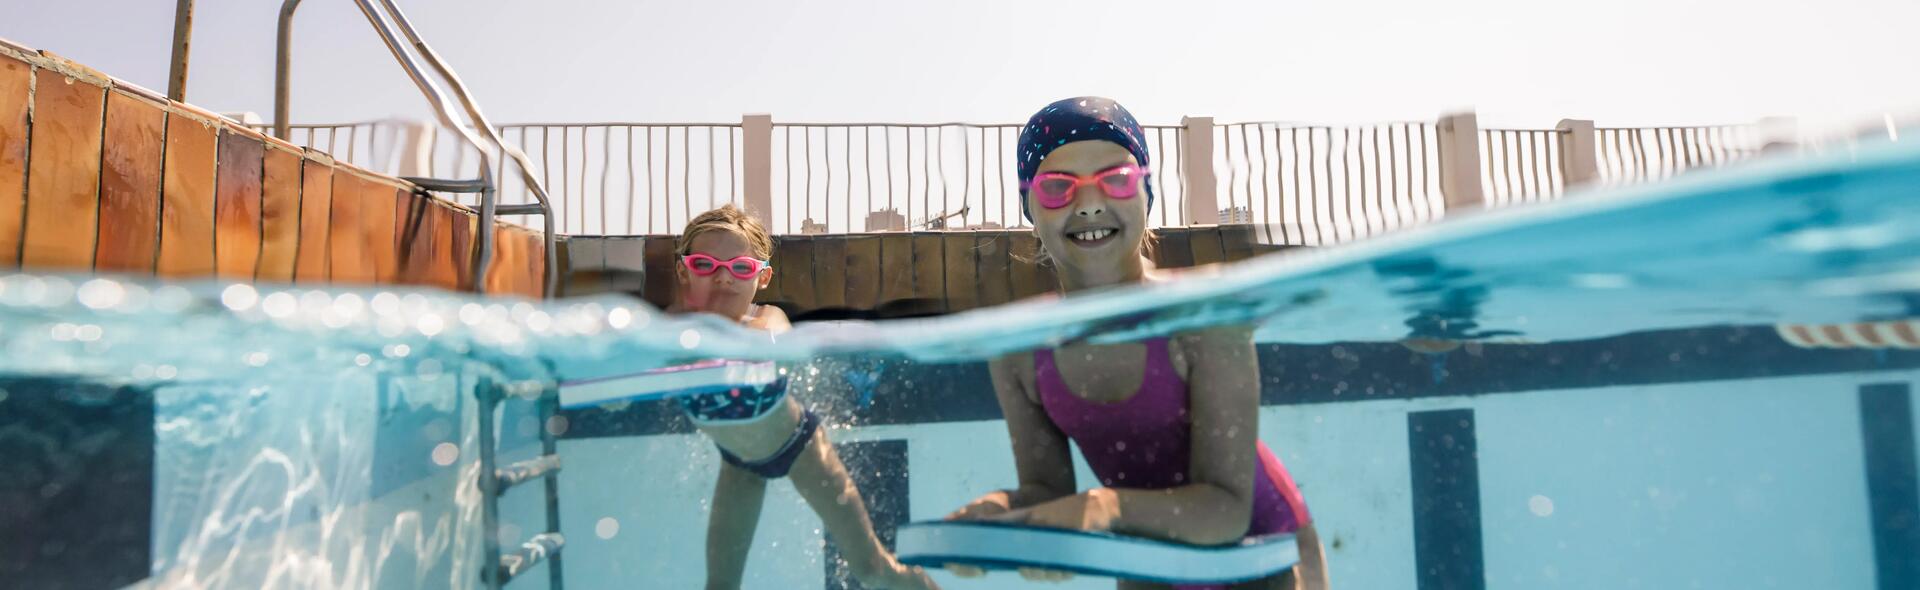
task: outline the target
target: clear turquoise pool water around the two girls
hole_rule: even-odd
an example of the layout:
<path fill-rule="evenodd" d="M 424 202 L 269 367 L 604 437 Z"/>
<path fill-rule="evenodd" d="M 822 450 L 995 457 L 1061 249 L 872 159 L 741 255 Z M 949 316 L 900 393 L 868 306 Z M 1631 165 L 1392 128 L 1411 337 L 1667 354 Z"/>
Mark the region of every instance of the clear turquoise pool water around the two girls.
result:
<path fill-rule="evenodd" d="M 776 359 L 891 536 L 1014 484 L 985 359 L 1246 323 L 1260 438 L 1340 588 L 1920 586 L 1920 350 L 1780 336 L 1920 319 L 1920 146 L 1461 217 L 1204 281 L 774 344 L 632 298 L 0 277 L 0 578 L 484 588 L 480 450 L 528 459 L 551 432 L 566 546 L 509 588 L 699 588 L 718 457 L 672 404 L 509 396 L 482 415 L 476 396 Z M 543 490 L 507 490 L 497 521 L 507 548 L 545 530 Z M 747 586 L 856 586 L 783 482 Z"/>

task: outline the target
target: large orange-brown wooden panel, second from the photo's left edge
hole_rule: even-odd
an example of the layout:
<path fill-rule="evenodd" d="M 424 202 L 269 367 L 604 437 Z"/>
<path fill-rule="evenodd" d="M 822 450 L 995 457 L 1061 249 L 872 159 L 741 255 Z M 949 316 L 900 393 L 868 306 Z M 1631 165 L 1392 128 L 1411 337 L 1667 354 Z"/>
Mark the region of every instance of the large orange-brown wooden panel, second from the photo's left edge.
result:
<path fill-rule="evenodd" d="M 35 71 L 21 265 L 92 269 L 100 231 L 100 129 L 108 88 Z"/>

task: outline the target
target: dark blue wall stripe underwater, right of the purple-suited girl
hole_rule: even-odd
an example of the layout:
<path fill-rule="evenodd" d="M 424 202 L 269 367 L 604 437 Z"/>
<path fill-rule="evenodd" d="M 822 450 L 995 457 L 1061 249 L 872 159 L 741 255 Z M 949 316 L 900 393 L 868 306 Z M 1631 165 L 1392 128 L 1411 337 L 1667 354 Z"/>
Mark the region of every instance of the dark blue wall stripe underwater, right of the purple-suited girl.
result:
<path fill-rule="evenodd" d="M 1421 590 L 1486 588 L 1473 409 L 1407 413 L 1413 563 Z"/>

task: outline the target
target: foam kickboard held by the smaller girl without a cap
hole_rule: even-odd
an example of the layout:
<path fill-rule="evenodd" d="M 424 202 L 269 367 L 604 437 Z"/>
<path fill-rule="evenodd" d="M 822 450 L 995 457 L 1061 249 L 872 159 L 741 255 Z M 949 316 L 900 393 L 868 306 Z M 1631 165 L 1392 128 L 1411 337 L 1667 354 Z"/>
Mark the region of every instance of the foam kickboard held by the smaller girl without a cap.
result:
<path fill-rule="evenodd" d="M 561 407 L 589 407 L 611 402 L 647 402 L 680 396 L 766 386 L 780 379 L 770 361 L 701 361 L 653 371 L 578 379 L 561 382 Z"/>

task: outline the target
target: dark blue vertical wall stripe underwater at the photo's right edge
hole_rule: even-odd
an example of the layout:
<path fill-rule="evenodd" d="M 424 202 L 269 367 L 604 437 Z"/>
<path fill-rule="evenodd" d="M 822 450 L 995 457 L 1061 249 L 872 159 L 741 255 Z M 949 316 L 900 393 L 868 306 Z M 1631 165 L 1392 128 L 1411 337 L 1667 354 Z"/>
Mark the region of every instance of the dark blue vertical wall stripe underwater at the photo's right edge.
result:
<path fill-rule="evenodd" d="M 1866 446 L 1876 578 L 1882 590 L 1920 588 L 1920 475 L 1914 467 L 1908 384 L 1860 386 L 1860 436 Z"/>

